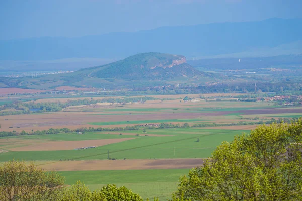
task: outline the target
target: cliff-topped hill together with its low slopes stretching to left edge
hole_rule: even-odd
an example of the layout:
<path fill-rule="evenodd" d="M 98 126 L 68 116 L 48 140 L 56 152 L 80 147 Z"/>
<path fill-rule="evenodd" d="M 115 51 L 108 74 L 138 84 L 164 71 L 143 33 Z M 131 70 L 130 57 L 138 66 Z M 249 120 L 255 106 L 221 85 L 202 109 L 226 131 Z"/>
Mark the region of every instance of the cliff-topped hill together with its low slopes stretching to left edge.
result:
<path fill-rule="evenodd" d="M 1 87 L 55 89 L 59 86 L 134 88 L 163 84 L 199 84 L 214 80 L 211 73 L 196 70 L 186 57 L 164 53 L 141 53 L 110 64 L 72 73 L 38 77 L 2 78 Z"/>

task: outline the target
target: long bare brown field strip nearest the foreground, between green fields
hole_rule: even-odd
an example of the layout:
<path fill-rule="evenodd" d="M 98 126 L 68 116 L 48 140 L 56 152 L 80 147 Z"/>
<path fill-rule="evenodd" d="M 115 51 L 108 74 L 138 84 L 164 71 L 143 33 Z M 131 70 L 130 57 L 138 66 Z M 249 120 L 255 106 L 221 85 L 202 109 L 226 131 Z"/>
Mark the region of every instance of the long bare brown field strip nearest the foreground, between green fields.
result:
<path fill-rule="evenodd" d="M 190 169 L 201 166 L 203 159 L 140 159 L 140 160 L 84 160 L 55 161 L 40 164 L 44 170 L 140 170 L 140 169 Z"/>

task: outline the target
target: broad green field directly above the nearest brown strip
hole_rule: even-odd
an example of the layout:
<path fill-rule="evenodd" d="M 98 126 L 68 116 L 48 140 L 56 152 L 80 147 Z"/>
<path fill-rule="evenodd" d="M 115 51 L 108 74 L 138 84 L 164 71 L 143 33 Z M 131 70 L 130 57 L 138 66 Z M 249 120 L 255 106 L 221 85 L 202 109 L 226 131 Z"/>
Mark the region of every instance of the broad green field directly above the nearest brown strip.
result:
<path fill-rule="evenodd" d="M 94 149 L 85 150 L 61 150 L 61 151 L 10 151 L 2 153 L 0 161 L 12 159 L 23 160 L 105 160 L 109 150 L 109 157 L 116 159 L 149 159 L 149 158 L 206 158 L 211 156 L 215 148 L 222 141 L 232 141 L 234 136 L 244 132 L 243 130 L 222 129 L 154 129 L 147 130 L 144 134 L 141 130 L 132 131 L 142 136 L 132 136 L 135 139 L 104 145 Z M 122 137 L 127 132 L 123 132 Z M 166 137 L 144 136 L 147 134 L 162 134 Z M 92 134 L 95 135 L 95 134 Z M 108 135 L 108 134 L 98 134 Z M 173 136 L 171 136 L 173 135 Z M 49 135 L 55 136 L 55 135 Z M 83 135 L 85 136 L 85 135 Z M 110 135 L 111 136 L 111 135 Z M 119 136 L 119 135 L 112 135 Z M 197 142 L 197 138 L 200 139 Z"/>

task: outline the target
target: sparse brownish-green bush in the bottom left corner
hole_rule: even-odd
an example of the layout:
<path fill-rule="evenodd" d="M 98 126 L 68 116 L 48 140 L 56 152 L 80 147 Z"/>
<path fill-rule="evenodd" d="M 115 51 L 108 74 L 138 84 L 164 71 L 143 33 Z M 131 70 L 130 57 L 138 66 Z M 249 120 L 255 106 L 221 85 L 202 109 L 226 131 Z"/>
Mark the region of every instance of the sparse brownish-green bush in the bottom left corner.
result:
<path fill-rule="evenodd" d="M 23 161 L 9 161 L 0 166 L 0 200 L 58 200 L 64 177 L 56 172 Z"/>

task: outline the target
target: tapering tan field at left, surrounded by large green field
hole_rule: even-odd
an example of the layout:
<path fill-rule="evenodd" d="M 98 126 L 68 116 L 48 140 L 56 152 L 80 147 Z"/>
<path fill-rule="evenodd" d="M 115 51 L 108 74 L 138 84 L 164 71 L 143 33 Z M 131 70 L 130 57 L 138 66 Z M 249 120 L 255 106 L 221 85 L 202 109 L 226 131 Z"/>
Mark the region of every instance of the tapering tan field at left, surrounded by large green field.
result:
<path fill-rule="evenodd" d="M 81 147 L 103 146 L 107 144 L 123 142 L 135 138 L 103 139 L 103 140 L 81 140 L 81 141 L 55 141 L 37 143 L 23 147 L 11 148 L 12 151 L 56 151 L 72 150 Z"/>

